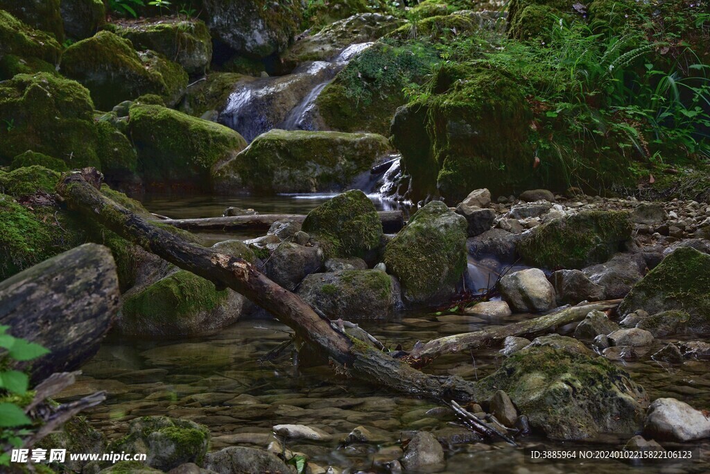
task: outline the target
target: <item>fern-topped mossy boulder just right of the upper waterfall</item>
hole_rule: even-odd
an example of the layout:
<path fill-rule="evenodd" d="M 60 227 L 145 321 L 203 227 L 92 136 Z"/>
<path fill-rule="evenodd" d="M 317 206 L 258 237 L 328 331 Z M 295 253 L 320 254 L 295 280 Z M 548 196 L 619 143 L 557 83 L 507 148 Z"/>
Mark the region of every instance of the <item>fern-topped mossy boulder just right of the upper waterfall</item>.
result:
<path fill-rule="evenodd" d="M 376 43 L 356 55 L 322 90 L 315 101 L 314 122 L 321 130 L 387 135 L 395 111 L 407 102 L 403 84 L 423 82 L 437 60 L 430 45 Z"/>

